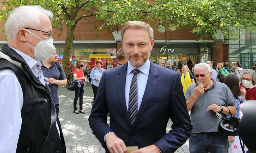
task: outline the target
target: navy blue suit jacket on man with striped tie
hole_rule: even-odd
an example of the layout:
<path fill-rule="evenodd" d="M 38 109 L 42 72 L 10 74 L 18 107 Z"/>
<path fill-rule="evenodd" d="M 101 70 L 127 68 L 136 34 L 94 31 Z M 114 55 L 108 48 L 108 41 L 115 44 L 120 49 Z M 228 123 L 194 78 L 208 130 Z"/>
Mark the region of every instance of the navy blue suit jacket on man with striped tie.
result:
<path fill-rule="evenodd" d="M 104 71 L 89 117 L 93 134 L 108 152 L 104 136 L 114 132 L 126 146 L 143 148 L 152 144 L 162 152 L 175 152 L 192 130 L 179 73 L 150 61 L 150 71 L 141 106 L 131 126 L 125 102 L 127 65 Z M 110 127 L 107 124 L 108 112 Z M 172 130 L 166 133 L 169 117 Z"/>

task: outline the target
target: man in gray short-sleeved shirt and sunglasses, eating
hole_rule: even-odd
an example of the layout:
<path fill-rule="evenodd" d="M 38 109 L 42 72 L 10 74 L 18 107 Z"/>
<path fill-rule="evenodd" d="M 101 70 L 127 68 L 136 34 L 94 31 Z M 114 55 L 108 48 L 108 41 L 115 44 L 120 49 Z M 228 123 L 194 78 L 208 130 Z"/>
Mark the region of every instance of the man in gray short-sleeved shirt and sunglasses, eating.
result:
<path fill-rule="evenodd" d="M 221 119 L 230 114 L 227 107 L 232 114 L 236 114 L 234 97 L 227 85 L 211 79 L 208 64 L 196 64 L 194 69 L 196 83 L 190 85 L 185 94 L 193 125 L 189 151 L 228 153 L 228 137 L 219 133 L 218 127 Z M 198 85 L 198 82 L 202 84 Z"/>

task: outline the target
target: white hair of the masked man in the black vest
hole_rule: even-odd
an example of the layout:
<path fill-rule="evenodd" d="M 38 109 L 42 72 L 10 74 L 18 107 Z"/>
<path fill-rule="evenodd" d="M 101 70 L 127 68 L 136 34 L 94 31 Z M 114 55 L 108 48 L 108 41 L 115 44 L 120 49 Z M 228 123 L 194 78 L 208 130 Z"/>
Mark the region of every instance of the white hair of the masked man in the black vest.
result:
<path fill-rule="evenodd" d="M 53 14 L 50 10 L 43 9 L 39 5 L 19 6 L 10 12 L 5 23 L 7 40 L 15 38 L 20 28 L 35 28 L 40 26 L 40 18 L 45 14 L 52 21 Z"/>

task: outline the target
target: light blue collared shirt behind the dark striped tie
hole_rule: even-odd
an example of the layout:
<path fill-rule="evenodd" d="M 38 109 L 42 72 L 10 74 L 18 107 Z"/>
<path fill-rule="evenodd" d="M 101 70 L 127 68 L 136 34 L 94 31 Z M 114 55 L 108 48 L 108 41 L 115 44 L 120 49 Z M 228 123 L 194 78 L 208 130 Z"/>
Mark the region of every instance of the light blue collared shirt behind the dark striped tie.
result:
<path fill-rule="evenodd" d="M 126 70 L 126 80 L 125 80 L 125 102 L 127 112 L 129 109 L 129 94 L 130 94 L 130 86 L 132 82 L 133 73 L 132 70 L 136 69 L 130 62 L 128 62 L 127 70 Z M 150 69 L 150 61 L 149 59 L 141 65 L 139 68 L 140 72 L 137 74 L 137 84 L 138 84 L 138 111 L 140 108 L 140 104 L 142 101 L 142 97 L 144 95 L 147 81 L 148 81 L 148 74 Z"/>

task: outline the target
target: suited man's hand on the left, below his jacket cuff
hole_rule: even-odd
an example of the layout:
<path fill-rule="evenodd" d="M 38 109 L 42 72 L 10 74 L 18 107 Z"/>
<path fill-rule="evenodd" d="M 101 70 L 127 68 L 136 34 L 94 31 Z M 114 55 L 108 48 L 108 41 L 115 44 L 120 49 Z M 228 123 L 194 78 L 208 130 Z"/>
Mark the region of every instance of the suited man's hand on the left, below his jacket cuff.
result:
<path fill-rule="evenodd" d="M 118 138 L 115 133 L 108 133 L 105 137 L 109 152 L 124 153 L 127 151 L 124 141 Z"/>

